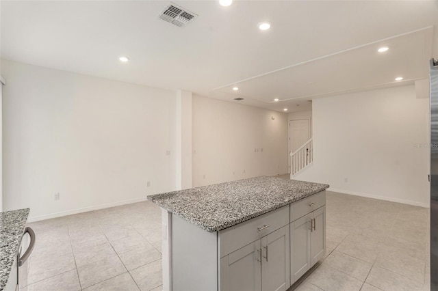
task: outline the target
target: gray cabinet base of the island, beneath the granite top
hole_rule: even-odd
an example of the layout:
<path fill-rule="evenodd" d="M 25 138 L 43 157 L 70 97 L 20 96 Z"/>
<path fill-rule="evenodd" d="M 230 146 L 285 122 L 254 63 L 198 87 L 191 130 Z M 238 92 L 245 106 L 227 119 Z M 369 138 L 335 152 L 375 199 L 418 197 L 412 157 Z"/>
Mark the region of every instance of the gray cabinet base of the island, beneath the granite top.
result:
<path fill-rule="evenodd" d="M 164 290 L 285 291 L 326 249 L 325 191 L 219 232 L 163 221 Z"/>

